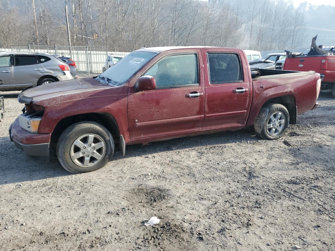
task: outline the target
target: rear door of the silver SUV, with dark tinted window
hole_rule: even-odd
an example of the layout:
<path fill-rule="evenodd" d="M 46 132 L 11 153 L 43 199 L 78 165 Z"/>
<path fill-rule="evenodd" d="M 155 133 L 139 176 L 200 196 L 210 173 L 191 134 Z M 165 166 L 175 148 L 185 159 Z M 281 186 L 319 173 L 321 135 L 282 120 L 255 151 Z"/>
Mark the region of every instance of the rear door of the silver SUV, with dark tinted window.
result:
<path fill-rule="evenodd" d="M 36 85 L 43 75 L 44 68 L 37 56 L 14 55 L 13 79 L 17 90 Z"/>

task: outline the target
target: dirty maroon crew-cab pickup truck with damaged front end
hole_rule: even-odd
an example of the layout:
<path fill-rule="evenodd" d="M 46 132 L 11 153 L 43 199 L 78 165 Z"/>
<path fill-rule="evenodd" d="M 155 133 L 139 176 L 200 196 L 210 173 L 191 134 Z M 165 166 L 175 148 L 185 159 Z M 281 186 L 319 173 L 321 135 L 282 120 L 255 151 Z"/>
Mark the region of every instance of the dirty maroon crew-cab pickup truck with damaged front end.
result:
<path fill-rule="evenodd" d="M 9 134 L 37 160 L 57 141 L 67 171 L 89 172 L 111 160 L 114 142 L 125 154 L 128 144 L 252 126 L 261 139 L 279 139 L 317 107 L 320 84 L 315 72 L 255 74 L 240 49 L 143 48 L 94 78 L 23 90 L 24 113 Z"/>

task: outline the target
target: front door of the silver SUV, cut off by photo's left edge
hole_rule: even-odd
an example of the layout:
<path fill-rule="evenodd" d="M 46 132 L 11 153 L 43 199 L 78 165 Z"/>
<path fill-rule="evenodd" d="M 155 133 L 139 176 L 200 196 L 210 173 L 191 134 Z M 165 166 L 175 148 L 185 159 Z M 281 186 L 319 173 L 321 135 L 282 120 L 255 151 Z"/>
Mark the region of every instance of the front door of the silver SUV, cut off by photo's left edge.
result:
<path fill-rule="evenodd" d="M 14 82 L 12 75 L 12 65 L 11 65 L 11 56 L 2 56 L 0 57 L 0 90 L 13 90 Z"/>

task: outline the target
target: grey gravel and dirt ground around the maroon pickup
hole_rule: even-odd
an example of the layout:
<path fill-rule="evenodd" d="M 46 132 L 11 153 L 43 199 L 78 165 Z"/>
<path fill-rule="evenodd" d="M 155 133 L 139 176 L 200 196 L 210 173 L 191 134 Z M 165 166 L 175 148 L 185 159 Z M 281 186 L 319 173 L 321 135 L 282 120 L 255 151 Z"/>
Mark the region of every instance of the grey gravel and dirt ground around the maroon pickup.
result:
<path fill-rule="evenodd" d="M 22 105 L 4 95 L 0 250 L 335 250 L 329 92 L 277 141 L 239 130 L 127 146 L 75 175 L 14 147 Z"/>

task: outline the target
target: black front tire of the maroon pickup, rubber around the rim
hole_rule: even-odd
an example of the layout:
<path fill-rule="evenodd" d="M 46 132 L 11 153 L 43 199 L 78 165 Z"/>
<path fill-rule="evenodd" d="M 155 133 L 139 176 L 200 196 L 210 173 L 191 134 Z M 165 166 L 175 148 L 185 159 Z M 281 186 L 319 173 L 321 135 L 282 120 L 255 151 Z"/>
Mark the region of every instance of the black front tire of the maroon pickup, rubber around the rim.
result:
<path fill-rule="evenodd" d="M 90 167 L 82 167 L 71 159 L 71 147 L 81 136 L 94 134 L 100 137 L 105 143 L 105 151 L 102 158 L 96 164 Z M 92 144 L 93 145 L 93 144 Z M 81 150 L 79 150 L 80 152 Z M 69 126 L 61 134 L 57 142 L 57 158 L 61 165 L 70 173 L 92 172 L 104 167 L 111 160 L 114 153 L 114 140 L 111 133 L 101 124 L 92 121 L 77 122 Z M 86 153 L 85 153 L 86 154 Z M 85 155 L 84 154 L 84 155 Z M 85 156 L 83 156 L 84 158 Z M 94 157 L 93 155 L 91 157 Z M 89 157 L 89 159 L 91 159 Z M 93 158 L 94 160 L 94 158 Z M 92 162 L 94 163 L 94 162 Z"/>

